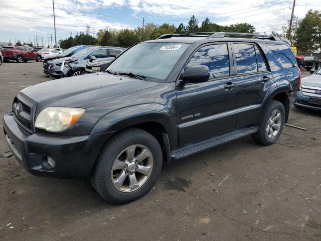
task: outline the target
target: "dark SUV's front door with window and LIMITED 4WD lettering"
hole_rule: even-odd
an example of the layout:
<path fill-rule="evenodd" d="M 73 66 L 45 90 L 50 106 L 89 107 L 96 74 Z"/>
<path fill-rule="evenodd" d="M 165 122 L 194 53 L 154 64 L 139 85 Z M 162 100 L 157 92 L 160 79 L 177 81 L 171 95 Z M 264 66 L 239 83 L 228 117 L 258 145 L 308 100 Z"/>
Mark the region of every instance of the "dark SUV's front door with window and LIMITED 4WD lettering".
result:
<path fill-rule="evenodd" d="M 183 146 L 231 131 L 236 125 L 236 78 L 229 43 L 201 46 L 187 62 L 206 65 L 210 79 L 177 87 L 179 145 Z"/>

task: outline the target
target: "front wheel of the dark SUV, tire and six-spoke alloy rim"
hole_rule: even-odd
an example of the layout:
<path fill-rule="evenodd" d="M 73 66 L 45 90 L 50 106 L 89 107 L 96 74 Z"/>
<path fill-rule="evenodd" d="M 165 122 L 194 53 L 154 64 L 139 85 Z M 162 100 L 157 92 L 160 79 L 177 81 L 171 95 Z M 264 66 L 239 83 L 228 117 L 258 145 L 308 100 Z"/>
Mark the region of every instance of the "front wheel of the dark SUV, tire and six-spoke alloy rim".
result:
<path fill-rule="evenodd" d="M 148 132 L 130 128 L 103 147 L 90 180 L 106 201 L 123 204 L 142 197 L 152 188 L 162 164 L 158 141 Z"/>

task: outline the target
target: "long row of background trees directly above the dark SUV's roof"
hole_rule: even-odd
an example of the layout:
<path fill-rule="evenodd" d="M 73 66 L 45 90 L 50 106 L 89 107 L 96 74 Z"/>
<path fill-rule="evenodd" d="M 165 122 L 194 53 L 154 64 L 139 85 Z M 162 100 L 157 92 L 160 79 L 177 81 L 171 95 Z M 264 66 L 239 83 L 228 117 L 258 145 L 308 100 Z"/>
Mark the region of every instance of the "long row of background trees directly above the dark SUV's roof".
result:
<path fill-rule="evenodd" d="M 196 32 L 241 32 L 254 33 L 254 26 L 247 23 L 240 23 L 228 26 L 222 26 L 206 18 L 201 26 L 198 19 L 193 15 L 188 22 L 188 25 L 181 23 L 177 28 L 174 25 L 164 23 L 156 26 L 153 23 L 145 24 L 144 29 L 137 27 L 135 29 L 116 30 L 113 28 L 100 29 L 97 32 L 97 38 L 92 35 L 80 32 L 75 37 L 69 37 L 59 41 L 59 45 L 63 49 L 70 48 L 75 45 L 100 45 L 100 46 L 119 46 L 130 47 L 141 41 L 156 39 L 164 34 L 187 34 Z"/>

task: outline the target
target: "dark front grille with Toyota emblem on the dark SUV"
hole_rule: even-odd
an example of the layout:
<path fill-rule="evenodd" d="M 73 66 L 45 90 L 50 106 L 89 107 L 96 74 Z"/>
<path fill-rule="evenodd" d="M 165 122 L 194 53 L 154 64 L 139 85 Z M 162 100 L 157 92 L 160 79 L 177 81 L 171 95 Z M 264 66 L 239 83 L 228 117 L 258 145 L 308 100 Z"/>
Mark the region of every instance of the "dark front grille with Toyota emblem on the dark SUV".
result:
<path fill-rule="evenodd" d="M 26 105 L 18 98 L 15 98 L 12 110 L 14 113 L 14 118 L 18 125 L 25 131 L 32 133 L 30 106 Z"/>

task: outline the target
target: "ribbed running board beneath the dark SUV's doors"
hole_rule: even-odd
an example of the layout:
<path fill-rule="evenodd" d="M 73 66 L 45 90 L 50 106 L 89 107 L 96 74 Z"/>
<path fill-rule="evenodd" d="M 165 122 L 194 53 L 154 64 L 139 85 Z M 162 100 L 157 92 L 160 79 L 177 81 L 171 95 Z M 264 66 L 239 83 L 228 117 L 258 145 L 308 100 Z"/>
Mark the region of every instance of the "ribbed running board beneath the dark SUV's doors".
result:
<path fill-rule="evenodd" d="M 237 140 L 239 138 L 254 134 L 258 131 L 258 127 L 246 127 L 234 130 L 233 132 L 225 133 L 217 137 L 213 137 L 203 142 L 195 143 L 187 147 L 180 148 L 171 153 L 171 159 L 177 160 L 188 157 L 192 154 L 205 151 L 207 149 L 220 146 L 222 144 Z"/>

